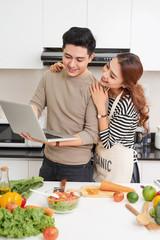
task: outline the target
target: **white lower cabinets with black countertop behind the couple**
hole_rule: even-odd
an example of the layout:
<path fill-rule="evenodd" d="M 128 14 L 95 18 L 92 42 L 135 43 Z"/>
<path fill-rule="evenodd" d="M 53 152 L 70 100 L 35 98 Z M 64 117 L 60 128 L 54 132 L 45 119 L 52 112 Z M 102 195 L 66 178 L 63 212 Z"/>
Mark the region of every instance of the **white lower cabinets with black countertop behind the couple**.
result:
<path fill-rule="evenodd" d="M 0 148 L 0 166 L 9 167 L 12 180 L 39 175 L 42 165 L 43 148 Z M 140 181 L 153 183 L 159 178 L 160 150 L 153 144 L 136 149 L 140 169 Z"/>

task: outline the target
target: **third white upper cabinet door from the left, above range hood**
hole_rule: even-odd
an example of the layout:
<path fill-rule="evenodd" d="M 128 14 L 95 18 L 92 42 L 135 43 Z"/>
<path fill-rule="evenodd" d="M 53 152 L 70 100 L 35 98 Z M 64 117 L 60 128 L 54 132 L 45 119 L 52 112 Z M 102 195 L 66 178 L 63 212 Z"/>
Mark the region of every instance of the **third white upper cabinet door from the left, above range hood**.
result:
<path fill-rule="evenodd" d="M 88 27 L 97 48 L 130 48 L 131 0 L 88 0 Z"/>

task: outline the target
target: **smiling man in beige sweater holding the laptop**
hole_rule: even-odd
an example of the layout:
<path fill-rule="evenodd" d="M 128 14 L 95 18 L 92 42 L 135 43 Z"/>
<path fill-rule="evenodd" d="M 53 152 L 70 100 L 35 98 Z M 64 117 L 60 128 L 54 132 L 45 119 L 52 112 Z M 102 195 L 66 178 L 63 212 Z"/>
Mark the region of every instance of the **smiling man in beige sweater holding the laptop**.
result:
<path fill-rule="evenodd" d="M 46 181 L 92 181 L 91 149 L 98 140 L 98 121 L 89 91 L 96 79 L 87 65 L 94 57 L 95 45 L 88 28 L 73 27 L 64 33 L 65 69 L 61 73 L 47 71 L 30 102 L 38 117 L 47 106 L 47 129 L 77 137 L 45 143 L 40 176 Z"/>

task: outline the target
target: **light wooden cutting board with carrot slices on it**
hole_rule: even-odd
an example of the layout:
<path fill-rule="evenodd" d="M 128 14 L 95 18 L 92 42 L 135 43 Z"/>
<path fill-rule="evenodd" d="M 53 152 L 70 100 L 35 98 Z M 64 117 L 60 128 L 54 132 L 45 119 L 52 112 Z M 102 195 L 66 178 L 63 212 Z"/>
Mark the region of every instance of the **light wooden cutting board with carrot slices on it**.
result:
<path fill-rule="evenodd" d="M 82 186 L 80 189 L 68 189 L 68 192 L 79 192 L 83 197 L 112 198 L 114 192 L 101 191 L 100 186 Z"/>

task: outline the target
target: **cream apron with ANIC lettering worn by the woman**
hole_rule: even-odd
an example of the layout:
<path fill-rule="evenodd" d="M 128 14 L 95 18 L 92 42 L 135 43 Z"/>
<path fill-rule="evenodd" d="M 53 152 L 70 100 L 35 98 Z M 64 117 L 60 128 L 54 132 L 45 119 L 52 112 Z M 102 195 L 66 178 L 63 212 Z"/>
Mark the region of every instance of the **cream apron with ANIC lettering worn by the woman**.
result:
<path fill-rule="evenodd" d="M 115 99 L 110 115 L 109 122 L 123 91 Z M 113 147 L 104 148 L 99 141 L 94 155 L 95 170 L 93 179 L 96 182 L 102 180 L 119 183 L 130 183 L 133 172 L 133 152 L 132 148 L 116 143 Z"/>

